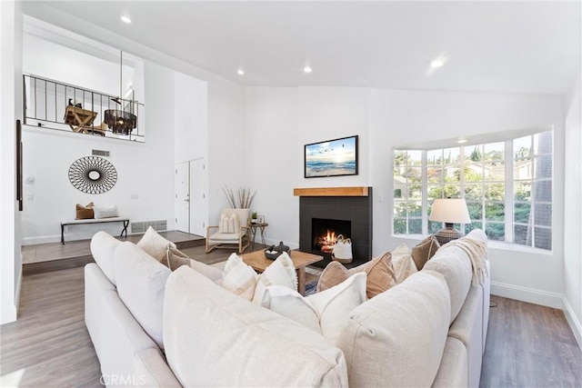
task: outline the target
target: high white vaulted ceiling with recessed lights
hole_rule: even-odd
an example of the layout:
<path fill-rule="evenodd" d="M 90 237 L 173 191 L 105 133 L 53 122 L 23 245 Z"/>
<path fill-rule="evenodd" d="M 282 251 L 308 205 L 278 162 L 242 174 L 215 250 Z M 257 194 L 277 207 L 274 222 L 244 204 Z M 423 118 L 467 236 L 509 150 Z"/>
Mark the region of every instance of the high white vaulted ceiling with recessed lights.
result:
<path fill-rule="evenodd" d="M 71 17 L 48 18 L 46 10 L 73 15 L 242 85 L 566 94 L 580 71 L 579 1 L 24 6 L 25 14 L 65 28 Z M 431 69 L 438 56 L 446 64 Z"/>

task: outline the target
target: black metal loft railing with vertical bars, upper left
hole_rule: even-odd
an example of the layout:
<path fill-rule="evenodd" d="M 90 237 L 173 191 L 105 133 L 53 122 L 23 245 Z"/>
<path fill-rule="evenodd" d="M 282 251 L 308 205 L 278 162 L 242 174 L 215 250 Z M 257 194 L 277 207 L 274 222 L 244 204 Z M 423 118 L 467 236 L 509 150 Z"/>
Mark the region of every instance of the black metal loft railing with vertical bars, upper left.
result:
<path fill-rule="evenodd" d="M 134 142 L 146 141 L 142 129 L 145 106 L 134 101 L 133 91 L 132 99 L 128 100 L 35 75 L 23 75 L 23 87 L 26 125 Z M 124 131 L 119 131 L 117 125 L 109 127 L 105 124 L 107 110 L 115 110 L 115 117 L 135 114 L 135 127 L 132 124 L 127 129 L 125 125 Z"/>

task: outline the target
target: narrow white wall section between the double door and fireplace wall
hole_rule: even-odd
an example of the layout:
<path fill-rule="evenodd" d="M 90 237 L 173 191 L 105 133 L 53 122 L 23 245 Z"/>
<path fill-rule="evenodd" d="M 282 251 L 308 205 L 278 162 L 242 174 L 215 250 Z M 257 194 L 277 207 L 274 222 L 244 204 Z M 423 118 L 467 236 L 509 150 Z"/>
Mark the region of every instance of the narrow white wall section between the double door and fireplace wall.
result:
<path fill-rule="evenodd" d="M 208 83 L 208 224 L 217 225 L 220 209 L 229 207 L 223 187 L 252 186 L 245 169 L 245 92 Z"/>

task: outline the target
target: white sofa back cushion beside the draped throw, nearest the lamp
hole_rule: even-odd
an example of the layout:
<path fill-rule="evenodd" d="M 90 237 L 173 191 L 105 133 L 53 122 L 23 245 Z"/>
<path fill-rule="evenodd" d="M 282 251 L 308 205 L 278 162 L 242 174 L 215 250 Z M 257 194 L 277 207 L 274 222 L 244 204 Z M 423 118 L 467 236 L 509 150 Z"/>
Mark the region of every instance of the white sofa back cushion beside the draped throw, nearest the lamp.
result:
<path fill-rule="evenodd" d="M 471 261 L 463 249 L 454 245 L 445 245 L 425 264 L 424 268 L 445 276 L 451 295 L 450 323 L 453 323 L 465 303 L 471 286 L 473 276 Z"/>

